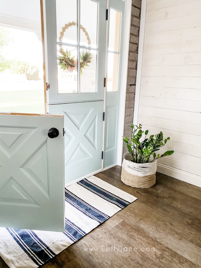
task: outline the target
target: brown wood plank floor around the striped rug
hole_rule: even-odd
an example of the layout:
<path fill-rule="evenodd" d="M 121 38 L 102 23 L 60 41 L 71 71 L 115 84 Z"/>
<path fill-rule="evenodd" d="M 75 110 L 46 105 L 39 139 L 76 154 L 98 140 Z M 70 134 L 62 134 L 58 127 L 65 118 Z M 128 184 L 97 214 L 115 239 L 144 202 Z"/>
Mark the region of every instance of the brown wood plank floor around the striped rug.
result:
<path fill-rule="evenodd" d="M 120 166 L 96 176 L 136 196 L 138 200 L 42 268 L 201 267 L 200 188 L 160 173 L 157 173 L 157 182 L 152 188 L 132 188 L 121 182 Z M 121 246 L 122 249 L 131 247 L 132 251 L 120 252 Z M 94 247 L 98 250 L 84 250 Z M 106 248 L 110 250 L 106 251 Z M 117 248 L 120 248 L 118 252 Z M 134 248 L 137 250 L 134 251 Z M 7 268 L 2 259 L 0 267 Z"/>

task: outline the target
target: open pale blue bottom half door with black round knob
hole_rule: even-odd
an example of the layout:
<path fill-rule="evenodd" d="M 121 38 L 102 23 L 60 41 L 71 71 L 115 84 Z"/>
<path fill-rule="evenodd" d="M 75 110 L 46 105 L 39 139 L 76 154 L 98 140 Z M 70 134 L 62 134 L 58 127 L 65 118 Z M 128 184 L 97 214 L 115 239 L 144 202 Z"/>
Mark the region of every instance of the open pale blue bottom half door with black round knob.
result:
<path fill-rule="evenodd" d="M 0 114 L 1 227 L 64 231 L 63 122 Z"/>

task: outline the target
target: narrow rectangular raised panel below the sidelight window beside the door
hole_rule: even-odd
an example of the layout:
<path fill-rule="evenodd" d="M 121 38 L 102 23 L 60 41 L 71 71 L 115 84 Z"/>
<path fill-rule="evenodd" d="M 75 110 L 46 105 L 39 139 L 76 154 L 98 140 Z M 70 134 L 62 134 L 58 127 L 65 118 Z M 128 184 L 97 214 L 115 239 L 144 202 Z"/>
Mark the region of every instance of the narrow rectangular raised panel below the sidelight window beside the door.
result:
<path fill-rule="evenodd" d="M 105 151 L 116 148 L 116 124 L 117 124 L 117 106 L 106 107 L 106 144 Z"/>

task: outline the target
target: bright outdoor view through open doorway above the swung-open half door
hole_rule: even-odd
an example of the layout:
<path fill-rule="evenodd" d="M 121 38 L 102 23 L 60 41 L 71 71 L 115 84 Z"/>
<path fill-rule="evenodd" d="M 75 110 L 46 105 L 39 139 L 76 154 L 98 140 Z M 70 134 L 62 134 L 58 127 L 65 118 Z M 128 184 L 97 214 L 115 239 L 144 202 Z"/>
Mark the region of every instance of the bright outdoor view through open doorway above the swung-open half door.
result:
<path fill-rule="evenodd" d="M 1 14 L 0 111 L 45 113 L 40 0 L 8 0 Z"/>

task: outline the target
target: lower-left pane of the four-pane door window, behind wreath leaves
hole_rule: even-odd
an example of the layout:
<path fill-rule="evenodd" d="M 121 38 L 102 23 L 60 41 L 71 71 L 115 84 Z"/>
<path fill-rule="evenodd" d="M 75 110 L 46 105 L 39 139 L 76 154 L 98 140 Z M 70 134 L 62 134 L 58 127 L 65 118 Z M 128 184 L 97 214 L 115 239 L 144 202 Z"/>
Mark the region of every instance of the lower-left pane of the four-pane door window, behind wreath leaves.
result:
<path fill-rule="evenodd" d="M 78 92 L 78 49 L 57 45 L 58 93 Z"/>

